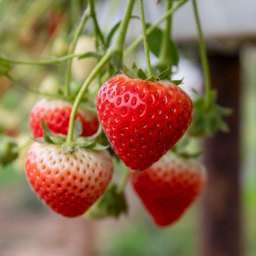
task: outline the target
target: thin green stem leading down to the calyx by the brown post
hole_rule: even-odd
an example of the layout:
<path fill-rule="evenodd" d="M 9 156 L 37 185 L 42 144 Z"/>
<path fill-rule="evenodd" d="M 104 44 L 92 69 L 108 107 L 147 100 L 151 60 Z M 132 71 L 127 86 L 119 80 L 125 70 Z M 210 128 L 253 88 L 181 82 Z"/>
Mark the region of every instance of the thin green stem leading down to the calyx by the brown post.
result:
<path fill-rule="evenodd" d="M 196 18 L 196 25 L 197 25 L 197 32 L 198 32 L 198 39 L 199 39 L 199 49 L 200 49 L 200 56 L 204 70 L 204 86 L 205 86 L 205 105 L 206 107 L 209 106 L 211 101 L 211 81 L 210 81 L 210 70 L 209 70 L 209 63 L 207 58 L 207 52 L 204 44 L 204 36 L 200 24 L 200 19 L 197 11 L 197 4 L 196 0 L 193 0 L 193 7 L 194 13 Z"/>

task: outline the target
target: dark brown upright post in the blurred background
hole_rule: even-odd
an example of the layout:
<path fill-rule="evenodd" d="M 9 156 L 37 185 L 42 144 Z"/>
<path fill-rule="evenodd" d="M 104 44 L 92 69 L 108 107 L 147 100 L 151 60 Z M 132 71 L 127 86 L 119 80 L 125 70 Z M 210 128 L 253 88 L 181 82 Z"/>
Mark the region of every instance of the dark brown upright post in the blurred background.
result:
<path fill-rule="evenodd" d="M 228 134 L 218 132 L 204 140 L 208 184 L 203 196 L 202 256 L 240 256 L 239 55 L 214 53 L 209 64 L 218 103 L 234 112 L 226 118 Z"/>

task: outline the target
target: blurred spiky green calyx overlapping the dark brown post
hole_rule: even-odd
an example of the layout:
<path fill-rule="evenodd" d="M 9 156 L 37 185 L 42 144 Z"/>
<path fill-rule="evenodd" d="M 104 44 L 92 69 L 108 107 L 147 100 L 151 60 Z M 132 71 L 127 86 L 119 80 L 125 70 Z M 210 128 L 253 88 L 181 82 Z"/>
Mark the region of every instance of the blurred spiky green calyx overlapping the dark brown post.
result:
<path fill-rule="evenodd" d="M 192 124 L 188 128 L 191 136 L 213 136 L 217 131 L 229 132 L 227 123 L 223 120 L 224 116 L 230 116 L 232 109 L 223 108 L 216 104 L 217 92 L 210 91 L 210 102 L 206 104 L 203 95 L 194 90 L 195 99 L 194 117 Z"/>

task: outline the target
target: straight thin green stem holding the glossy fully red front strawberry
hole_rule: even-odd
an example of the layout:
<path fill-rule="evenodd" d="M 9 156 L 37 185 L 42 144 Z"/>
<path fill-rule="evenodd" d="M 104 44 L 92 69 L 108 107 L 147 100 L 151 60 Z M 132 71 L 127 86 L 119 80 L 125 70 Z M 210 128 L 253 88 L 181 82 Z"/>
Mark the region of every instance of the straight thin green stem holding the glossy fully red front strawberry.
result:
<path fill-rule="evenodd" d="M 152 76 L 152 68 L 150 64 L 148 36 L 146 31 L 147 29 L 146 29 L 145 14 L 144 14 L 144 8 L 143 8 L 143 0 L 139 0 L 139 8 L 140 8 L 140 20 L 141 20 L 141 27 L 142 27 L 142 34 L 143 34 L 143 41 L 144 41 L 145 56 L 146 56 L 147 69 L 148 69 L 148 77 L 150 77 Z"/>

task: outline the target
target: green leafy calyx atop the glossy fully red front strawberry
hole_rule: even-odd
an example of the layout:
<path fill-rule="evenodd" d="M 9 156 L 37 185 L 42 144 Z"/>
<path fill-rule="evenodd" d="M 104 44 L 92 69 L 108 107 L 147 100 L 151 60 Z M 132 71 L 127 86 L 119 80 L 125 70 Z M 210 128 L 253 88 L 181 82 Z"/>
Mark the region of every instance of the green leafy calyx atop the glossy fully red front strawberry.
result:
<path fill-rule="evenodd" d="M 157 74 L 157 70 L 155 68 L 152 68 L 153 75 L 148 77 L 148 75 L 141 69 L 136 66 L 136 63 L 132 63 L 132 69 L 127 68 L 125 65 L 122 69 L 123 73 L 132 78 L 132 79 L 141 79 L 151 82 L 156 82 L 159 80 L 167 80 L 175 85 L 180 85 L 183 81 L 183 78 L 181 80 L 170 80 L 170 77 L 172 75 L 171 69 L 168 67 L 160 74 Z"/>

